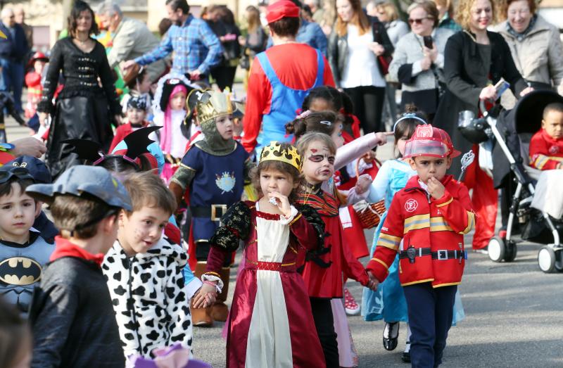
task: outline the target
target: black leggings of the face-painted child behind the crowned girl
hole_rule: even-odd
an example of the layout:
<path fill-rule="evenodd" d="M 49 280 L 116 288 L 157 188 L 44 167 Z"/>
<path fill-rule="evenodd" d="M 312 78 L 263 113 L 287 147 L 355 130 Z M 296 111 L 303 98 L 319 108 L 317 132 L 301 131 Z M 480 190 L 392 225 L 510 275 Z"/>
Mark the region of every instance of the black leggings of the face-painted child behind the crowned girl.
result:
<path fill-rule="evenodd" d="M 311 300 L 312 319 L 315 320 L 315 327 L 327 368 L 338 368 L 340 367 L 339 343 L 336 341 L 336 332 L 334 332 L 334 318 L 332 317 L 330 299 L 309 299 Z"/>

